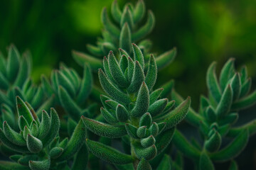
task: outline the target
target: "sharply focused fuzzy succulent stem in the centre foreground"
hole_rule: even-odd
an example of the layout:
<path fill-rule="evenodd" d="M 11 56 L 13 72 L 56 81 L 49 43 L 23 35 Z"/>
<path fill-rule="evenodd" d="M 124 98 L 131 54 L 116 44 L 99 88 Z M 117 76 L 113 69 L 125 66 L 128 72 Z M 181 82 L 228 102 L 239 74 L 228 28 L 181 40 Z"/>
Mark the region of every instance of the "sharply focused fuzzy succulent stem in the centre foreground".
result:
<path fill-rule="evenodd" d="M 93 140 L 86 140 L 87 148 L 100 159 L 111 164 L 133 164 L 134 169 L 151 169 L 149 161 L 166 149 L 171 142 L 176 124 L 188 112 L 190 98 L 172 110 L 174 101 L 169 101 L 172 81 L 165 89 L 153 90 L 157 76 L 154 55 L 148 69 L 142 50 L 132 44 L 133 56 L 119 49 L 119 60 L 110 51 L 104 58 L 104 72 L 99 69 L 102 89 L 100 109 L 107 123 L 82 117 L 85 127 L 97 135 L 122 138 L 130 147 L 131 155 L 123 154 L 112 147 Z M 130 165 L 124 165 L 130 166 Z"/>

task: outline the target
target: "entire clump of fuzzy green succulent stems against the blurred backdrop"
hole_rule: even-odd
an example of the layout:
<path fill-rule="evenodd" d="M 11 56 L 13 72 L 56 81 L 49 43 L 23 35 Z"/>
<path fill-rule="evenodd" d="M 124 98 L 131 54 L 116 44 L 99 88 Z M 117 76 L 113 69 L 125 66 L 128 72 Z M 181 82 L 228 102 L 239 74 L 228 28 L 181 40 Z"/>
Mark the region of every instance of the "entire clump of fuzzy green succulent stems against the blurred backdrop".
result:
<path fill-rule="evenodd" d="M 50 80 L 42 76 L 35 85 L 29 53 L 20 57 L 11 45 L 7 60 L 0 54 L 0 157 L 5 156 L 0 170 L 179 170 L 186 169 L 183 157 L 195 169 L 214 169 L 213 162 L 238 169 L 234 159 L 256 132 L 256 120 L 235 126 L 238 111 L 256 103 L 246 67 L 236 72 L 230 59 L 218 79 L 213 62 L 206 77 L 208 97 L 201 96 L 197 113 L 191 98 L 183 100 L 174 90 L 173 80 L 154 88 L 159 69 L 169 66 L 176 49 L 151 54 L 151 42 L 142 38 L 154 28 L 154 15 L 149 11 L 143 25 L 145 11 L 141 0 L 123 10 L 114 1 L 111 21 L 103 9 L 103 38 L 87 45 L 92 55 L 73 52 L 82 77 L 61 63 Z M 93 84 L 91 68 L 98 69 L 103 91 L 97 81 Z M 188 142 L 176 128 L 184 118 L 201 139 Z"/>

